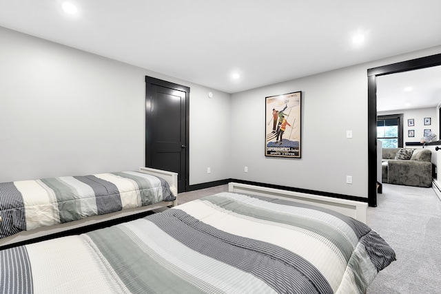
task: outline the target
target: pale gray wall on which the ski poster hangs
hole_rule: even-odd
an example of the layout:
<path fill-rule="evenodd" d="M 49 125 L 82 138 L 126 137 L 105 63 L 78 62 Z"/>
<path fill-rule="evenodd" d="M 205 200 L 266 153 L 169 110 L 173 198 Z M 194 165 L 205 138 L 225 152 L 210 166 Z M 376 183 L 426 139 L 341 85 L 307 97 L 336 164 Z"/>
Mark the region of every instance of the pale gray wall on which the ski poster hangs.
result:
<path fill-rule="evenodd" d="M 440 52 L 441 46 L 233 94 L 232 178 L 367 198 L 367 70 Z M 302 158 L 265 158 L 265 96 L 296 91 Z"/>

